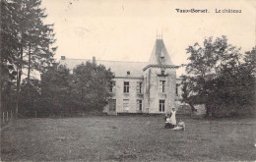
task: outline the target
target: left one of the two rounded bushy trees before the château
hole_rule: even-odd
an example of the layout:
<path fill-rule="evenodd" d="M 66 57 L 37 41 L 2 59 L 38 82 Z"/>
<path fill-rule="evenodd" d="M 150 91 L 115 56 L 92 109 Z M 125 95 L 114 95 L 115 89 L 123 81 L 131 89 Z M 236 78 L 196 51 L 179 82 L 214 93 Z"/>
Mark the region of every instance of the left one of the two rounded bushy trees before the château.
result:
<path fill-rule="evenodd" d="M 70 70 L 63 65 L 55 64 L 42 73 L 41 109 L 44 114 L 53 115 L 75 107 L 71 99 L 70 82 Z"/>

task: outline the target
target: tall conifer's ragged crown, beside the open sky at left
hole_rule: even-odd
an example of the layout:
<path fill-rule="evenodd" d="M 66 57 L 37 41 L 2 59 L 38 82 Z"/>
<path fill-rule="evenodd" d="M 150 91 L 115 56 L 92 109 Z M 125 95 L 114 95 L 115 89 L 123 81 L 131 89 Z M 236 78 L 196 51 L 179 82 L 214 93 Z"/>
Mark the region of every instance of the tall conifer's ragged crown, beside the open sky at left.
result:
<path fill-rule="evenodd" d="M 56 47 L 49 48 L 51 44 L 55 42 L 53 25 L 44 25 L 42 19 L 46 18 L 44 14 L 45 9 L 40 9 L 40 0 L 32 0 L 26 3 L 26 34 L 25 39 L 27 41 L 27 64 L 25 68 L 28 68 L 28 83 L 31 79 L 31 71 L 43 71 L 45 66 L 50 66 L 54 59 L 54 51 Z"/>

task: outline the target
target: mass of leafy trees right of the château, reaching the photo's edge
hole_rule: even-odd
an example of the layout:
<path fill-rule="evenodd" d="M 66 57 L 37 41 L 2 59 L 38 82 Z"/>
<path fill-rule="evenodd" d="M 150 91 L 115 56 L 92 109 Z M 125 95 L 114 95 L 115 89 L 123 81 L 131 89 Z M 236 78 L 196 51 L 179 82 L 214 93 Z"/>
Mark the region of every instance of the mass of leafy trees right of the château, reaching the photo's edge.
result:
<path fill-rule="evenodd" d="M 255 48 L 246 52 L 243 64 L 240 48 L 228 44 L 225 36 L 215 41 L 210 37 L 203 46 L 195 43 L 186 50 L 190 63 L 183 76 L 185 102 L 205 104 L 207 116 L 229 116 L 253 105 Z"/>

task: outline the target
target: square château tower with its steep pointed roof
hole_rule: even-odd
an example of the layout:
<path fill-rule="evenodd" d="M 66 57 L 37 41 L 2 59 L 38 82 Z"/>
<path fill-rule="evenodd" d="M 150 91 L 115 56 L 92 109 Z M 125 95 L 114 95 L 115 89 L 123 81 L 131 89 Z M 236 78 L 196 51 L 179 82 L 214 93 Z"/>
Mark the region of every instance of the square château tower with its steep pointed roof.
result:
<path fill-rule="evenodd" d="M 176 69 L 162 38 L 158 38 L 144 75 L 144 113 L 164 114 L 174 104 Z"/>

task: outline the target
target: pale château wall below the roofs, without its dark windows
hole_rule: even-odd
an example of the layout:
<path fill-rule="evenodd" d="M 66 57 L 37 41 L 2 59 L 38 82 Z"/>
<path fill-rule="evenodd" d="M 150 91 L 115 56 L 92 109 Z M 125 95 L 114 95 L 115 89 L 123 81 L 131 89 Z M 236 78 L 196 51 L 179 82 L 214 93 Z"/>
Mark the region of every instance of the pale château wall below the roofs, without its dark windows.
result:
<path fill-rule="evenodd" d="M 115 88 L 112 99 L 116 100 L 116 112 L 111 113 L 153 113 L 164 114 L 170 112 L 172 107 L 178 108 L 181 103 L 177 101 L 181 95 L 181 88 L 178 86 L 176 95 L 175 69 L 165 69 L 164 76 L 161 76 L 160 68 L 149 68 L 144 72 L 142 78 L 114 78 Z M 129 81 L 129 93 L 124 93 L 124 81 Z M 160 81 L 165 81 L 165 92 L 160 92 Z M 137 82 L 142 82 L 142 93 L 137 93 Z M 124 99 L 129 100 L 129 110 L 123 108 Z M 142 100 L 142 111 L 138 109 L 137 100 Z M 165 110 L 160 112 L 160 99 L 165 100 Z M 108 109 L 108 108 L 107 108 Z M 110 114 L 110 113 L 109 113 Z"/>

